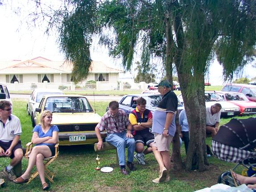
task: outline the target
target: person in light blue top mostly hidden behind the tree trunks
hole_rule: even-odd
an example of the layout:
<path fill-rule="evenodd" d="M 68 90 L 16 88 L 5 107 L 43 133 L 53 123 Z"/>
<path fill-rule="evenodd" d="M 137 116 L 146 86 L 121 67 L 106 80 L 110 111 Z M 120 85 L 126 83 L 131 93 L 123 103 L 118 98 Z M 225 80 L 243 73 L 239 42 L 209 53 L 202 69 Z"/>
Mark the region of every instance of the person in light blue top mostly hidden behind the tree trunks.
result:
<path fill-rule="evenodd" d="M 179 120 L 181 126 L 180 138 L 184 141 L 185 151 L 187 154 L 189 143 L 189 128 L 185 109 L 180 112 Z"/>

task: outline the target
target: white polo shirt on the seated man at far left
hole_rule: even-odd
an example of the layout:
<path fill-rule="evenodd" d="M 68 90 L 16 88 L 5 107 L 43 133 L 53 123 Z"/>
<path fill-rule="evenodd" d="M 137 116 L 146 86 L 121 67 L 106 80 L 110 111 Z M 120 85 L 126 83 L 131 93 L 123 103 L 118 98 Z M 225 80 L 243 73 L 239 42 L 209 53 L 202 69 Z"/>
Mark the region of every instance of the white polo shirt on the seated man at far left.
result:
<path fill-rule="evenodd" d="M 0 140 L 8 142 L 14 139 L 15 136 L 21 135 L 20 119 L 15 115 L 9 116 L 5 125 L 0 120 Z"/>

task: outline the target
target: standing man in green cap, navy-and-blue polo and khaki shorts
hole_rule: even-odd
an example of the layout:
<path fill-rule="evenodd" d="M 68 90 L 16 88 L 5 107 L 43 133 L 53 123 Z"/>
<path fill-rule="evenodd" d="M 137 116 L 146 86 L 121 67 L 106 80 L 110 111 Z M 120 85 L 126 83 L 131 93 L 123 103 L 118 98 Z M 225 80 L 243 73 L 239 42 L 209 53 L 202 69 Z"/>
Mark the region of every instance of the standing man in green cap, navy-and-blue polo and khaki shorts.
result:
<path fill-rule="evenodd" d="M 152 180 L 154 183 L 170 180 L 169 150 L 176 131 L 175 116 L 178 108 L 178 98 L 168 80 L 162 80 L 158 84 L 158 91 L 163 97 L 153 115 L 152 132 L 155 134 L 155 141 L 152 150 L 160 167 L 160 175 Z"/>

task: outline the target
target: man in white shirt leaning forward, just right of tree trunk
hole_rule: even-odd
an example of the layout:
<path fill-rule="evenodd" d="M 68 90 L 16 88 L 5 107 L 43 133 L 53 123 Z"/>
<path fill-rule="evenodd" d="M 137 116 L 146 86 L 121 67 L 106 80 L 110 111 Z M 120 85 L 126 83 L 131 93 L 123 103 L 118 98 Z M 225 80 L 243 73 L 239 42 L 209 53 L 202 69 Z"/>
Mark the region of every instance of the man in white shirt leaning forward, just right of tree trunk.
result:
<path fill-rule="evenodd" d="M 211 133 L 212 137 L 216 135 L 220 125 L 220 109 L 219 103 L 206 107 L 206 132 Z"/>

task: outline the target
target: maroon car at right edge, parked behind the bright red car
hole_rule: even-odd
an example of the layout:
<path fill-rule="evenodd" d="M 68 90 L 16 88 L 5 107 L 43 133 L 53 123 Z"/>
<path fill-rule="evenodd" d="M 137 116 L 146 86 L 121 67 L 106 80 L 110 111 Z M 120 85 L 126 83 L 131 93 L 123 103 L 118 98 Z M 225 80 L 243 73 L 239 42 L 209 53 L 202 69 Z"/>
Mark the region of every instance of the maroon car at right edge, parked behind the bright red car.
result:
<path fill-rule="evenodd" d="M 256 85 L 251 84 L 228 84 L 221 91 L 225 92 L 241 92 L 248 100 L 256 102 Z"/>

